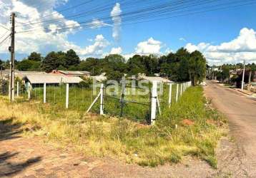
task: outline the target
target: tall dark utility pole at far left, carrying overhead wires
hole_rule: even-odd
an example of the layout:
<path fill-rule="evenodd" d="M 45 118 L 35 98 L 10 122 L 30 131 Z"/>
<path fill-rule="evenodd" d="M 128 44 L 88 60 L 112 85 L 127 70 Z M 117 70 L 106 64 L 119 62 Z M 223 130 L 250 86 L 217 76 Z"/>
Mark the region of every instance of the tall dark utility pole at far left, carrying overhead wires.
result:
<path fill-rule="evenodd" d="M 9 47 L 9 51 L 11 52 L 11 65 L 10 65 L 10 100 L 14 101 L 14 42 L 15 42 L 15 13 L 11 13 L 11 46 Z"/>

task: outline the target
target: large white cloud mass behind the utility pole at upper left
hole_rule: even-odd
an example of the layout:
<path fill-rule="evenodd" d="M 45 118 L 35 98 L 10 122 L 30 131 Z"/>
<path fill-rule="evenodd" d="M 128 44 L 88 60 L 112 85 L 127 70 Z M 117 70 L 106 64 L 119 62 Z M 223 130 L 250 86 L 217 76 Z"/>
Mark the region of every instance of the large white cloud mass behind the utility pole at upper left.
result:
<path fill-rule="evenodd" d="M 16 53 L 31 53 L 38 51 L 47 53 L 54 50 L 67 50 L 70 46 L 74 46 L 67 40 L 69 33 L 74 32 L 74 28 L 79 27 L 77 21 L 64 19 L 64 16 L 54 11 L 56 4 L 62 4 L 67 0 L 42 0 L 41 6 L 35 7 L 31 1 L 11 1 L 4 0 L 0 2 L 0 23 L 9 26 L 9 16 L 11 11 L 16 13 Z M 37 4 L 38 5 L 38 4 Z M 42 23 L 38 19 L 47 16 Z M 49 19 L 59 19 L 56 21 L 48 21 Z M 6 19 L 6 20 L 3 20 Z M 36 23 L 37 22 L 37 23 Z M 26 25 L 22 25 L 25 23 Z M 34 23 L 34 24 L 33 24 Z M 69 28 L 67 31 L 60 31 L 61 28 Z M 33 29 L 33 31 L 28 31 Z M 19 33 L 28 31 L 27 33 Z M 4 31 L 0 31 L 0 36 Z M 6 53 L 6 46 L 0 46 L 0 53 Z M 8 52 L 7 52 L 8 53 Z"/>

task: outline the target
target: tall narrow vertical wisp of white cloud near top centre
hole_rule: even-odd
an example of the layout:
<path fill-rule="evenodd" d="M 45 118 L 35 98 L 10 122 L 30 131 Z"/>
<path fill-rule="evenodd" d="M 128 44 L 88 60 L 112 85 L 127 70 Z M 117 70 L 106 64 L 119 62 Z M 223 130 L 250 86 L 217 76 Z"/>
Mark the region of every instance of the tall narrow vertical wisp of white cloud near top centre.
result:
<path fill-rule="evenodd" d="M 112 21 L 114 22 L 112 37 L 115 40 L 119 40 L 119 36 L 120 36 L 119 33 L 121 31 L 121 23 L 122 23 L 121 14 L 122 14 L 122 10 L 121 10 L 120 4 L 116 3 L 110 13 L 110 15 L 112 16 Z"/>

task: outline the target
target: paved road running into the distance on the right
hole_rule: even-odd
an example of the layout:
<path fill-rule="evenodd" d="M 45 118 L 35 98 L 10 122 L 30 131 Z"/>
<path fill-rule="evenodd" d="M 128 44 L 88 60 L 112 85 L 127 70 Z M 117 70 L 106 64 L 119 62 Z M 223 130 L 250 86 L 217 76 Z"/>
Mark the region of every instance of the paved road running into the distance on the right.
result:
<path fill-rule="evenodd" d="M 237 142 L 240 172 L 256 177 L 256 101 L 212 81 L 207 81 L 205 95 L 228 118 L 230 134 Z"/>

